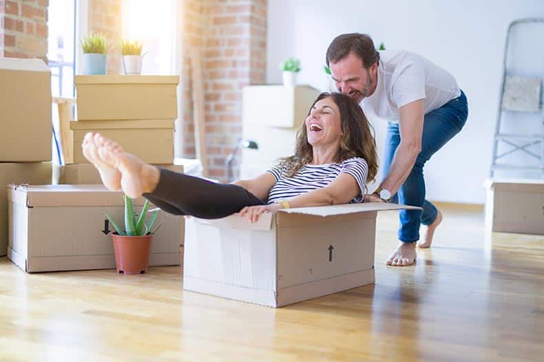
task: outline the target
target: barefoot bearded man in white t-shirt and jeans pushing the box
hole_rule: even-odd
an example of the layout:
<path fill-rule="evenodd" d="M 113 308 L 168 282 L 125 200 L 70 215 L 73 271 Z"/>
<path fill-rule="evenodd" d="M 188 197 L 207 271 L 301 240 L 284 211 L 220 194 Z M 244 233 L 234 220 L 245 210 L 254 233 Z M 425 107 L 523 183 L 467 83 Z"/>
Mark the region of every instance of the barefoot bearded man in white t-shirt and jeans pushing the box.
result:
<path fill-rule="evenodd" d="M 384 177 L 365 199 L 423 208 L 401 210 L 400 242 L 386 260 L 397 267 L 410 265 L 416 258 L 419 225 L 427 226 L 419 247 L 430 247 L 442 220 L 441 212 L 425 199 L 423 166 L 463 128 L 468 116 L 465 94 L 446 70 L 404 50 L 378 52 L 366 34 L 337 36 L 328 46 L 326 63 L 339 91 L 359 102 L 367 115 L 388 121 Z"/>

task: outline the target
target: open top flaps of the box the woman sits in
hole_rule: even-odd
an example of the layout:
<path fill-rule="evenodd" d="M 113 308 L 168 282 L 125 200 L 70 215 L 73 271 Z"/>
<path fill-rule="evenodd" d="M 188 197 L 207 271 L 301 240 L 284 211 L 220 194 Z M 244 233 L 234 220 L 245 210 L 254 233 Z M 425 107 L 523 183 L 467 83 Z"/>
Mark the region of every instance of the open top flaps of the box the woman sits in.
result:
<path fill-rule="evenodd" d="M 421 207 L 398 205 L 395 203 L 351 203 L 345 205 L 296 207 L 293 209 L 282 209 L 278 212 L 284 214 L 304 214 L 310 216 L 327 217 L 345 214 L 357 214 L 359 212 L 377 212 L 387 210 L 421 210 Z M 213 220 L 207 220 L 202 218 L 195 219 L 197 223 L 214 225 L 220 228 L 268 231 L 272 227 L 273 216 L 273 213 L 265 212 L 259 217 L 259 220 L 256 223 L 249 223 L 247 217 L 240 217 L 238 214 L 233 214 L 225 218 L 218 218 Z"/>

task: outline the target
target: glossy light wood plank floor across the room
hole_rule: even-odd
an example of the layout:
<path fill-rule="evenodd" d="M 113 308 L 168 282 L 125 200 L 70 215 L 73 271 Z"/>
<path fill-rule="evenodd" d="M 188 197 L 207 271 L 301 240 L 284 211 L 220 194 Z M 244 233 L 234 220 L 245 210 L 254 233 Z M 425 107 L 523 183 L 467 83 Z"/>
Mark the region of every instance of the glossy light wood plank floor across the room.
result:
<path fill-rule="evenodd" d="M 0 258 L 0 361 L 544 361 L 544 236 L 450 208 L 413 267 L 273 309 L 182 291 L 180 267 L 28 275 Z"/>

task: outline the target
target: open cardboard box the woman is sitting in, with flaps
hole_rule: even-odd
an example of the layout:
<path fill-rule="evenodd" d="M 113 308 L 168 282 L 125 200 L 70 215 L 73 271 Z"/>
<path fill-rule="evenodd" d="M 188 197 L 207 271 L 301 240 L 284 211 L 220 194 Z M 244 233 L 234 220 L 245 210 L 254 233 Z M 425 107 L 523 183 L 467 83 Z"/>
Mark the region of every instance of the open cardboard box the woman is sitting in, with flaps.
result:
<path fill-rule="evenodd" d="M 279 307 L 374 282 L 376 216 L 389 203 L 189 218 L 183 289 Z"/>

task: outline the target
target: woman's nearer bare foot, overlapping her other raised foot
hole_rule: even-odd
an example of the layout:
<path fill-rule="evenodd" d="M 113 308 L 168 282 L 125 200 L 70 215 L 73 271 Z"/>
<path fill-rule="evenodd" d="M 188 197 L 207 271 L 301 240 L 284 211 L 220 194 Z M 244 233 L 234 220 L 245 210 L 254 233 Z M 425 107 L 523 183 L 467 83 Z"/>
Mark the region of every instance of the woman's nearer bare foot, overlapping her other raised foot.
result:
<path fill-rule="evenodd" d="M 98 159 L 121 174 L 121 189 L 127 196 L 137 199 L 145 192 L 152 192 L 155 189 L 160 177 L 158 168 L 125 152 L 119 144 L 99 133 L 92 136 Z"/>

